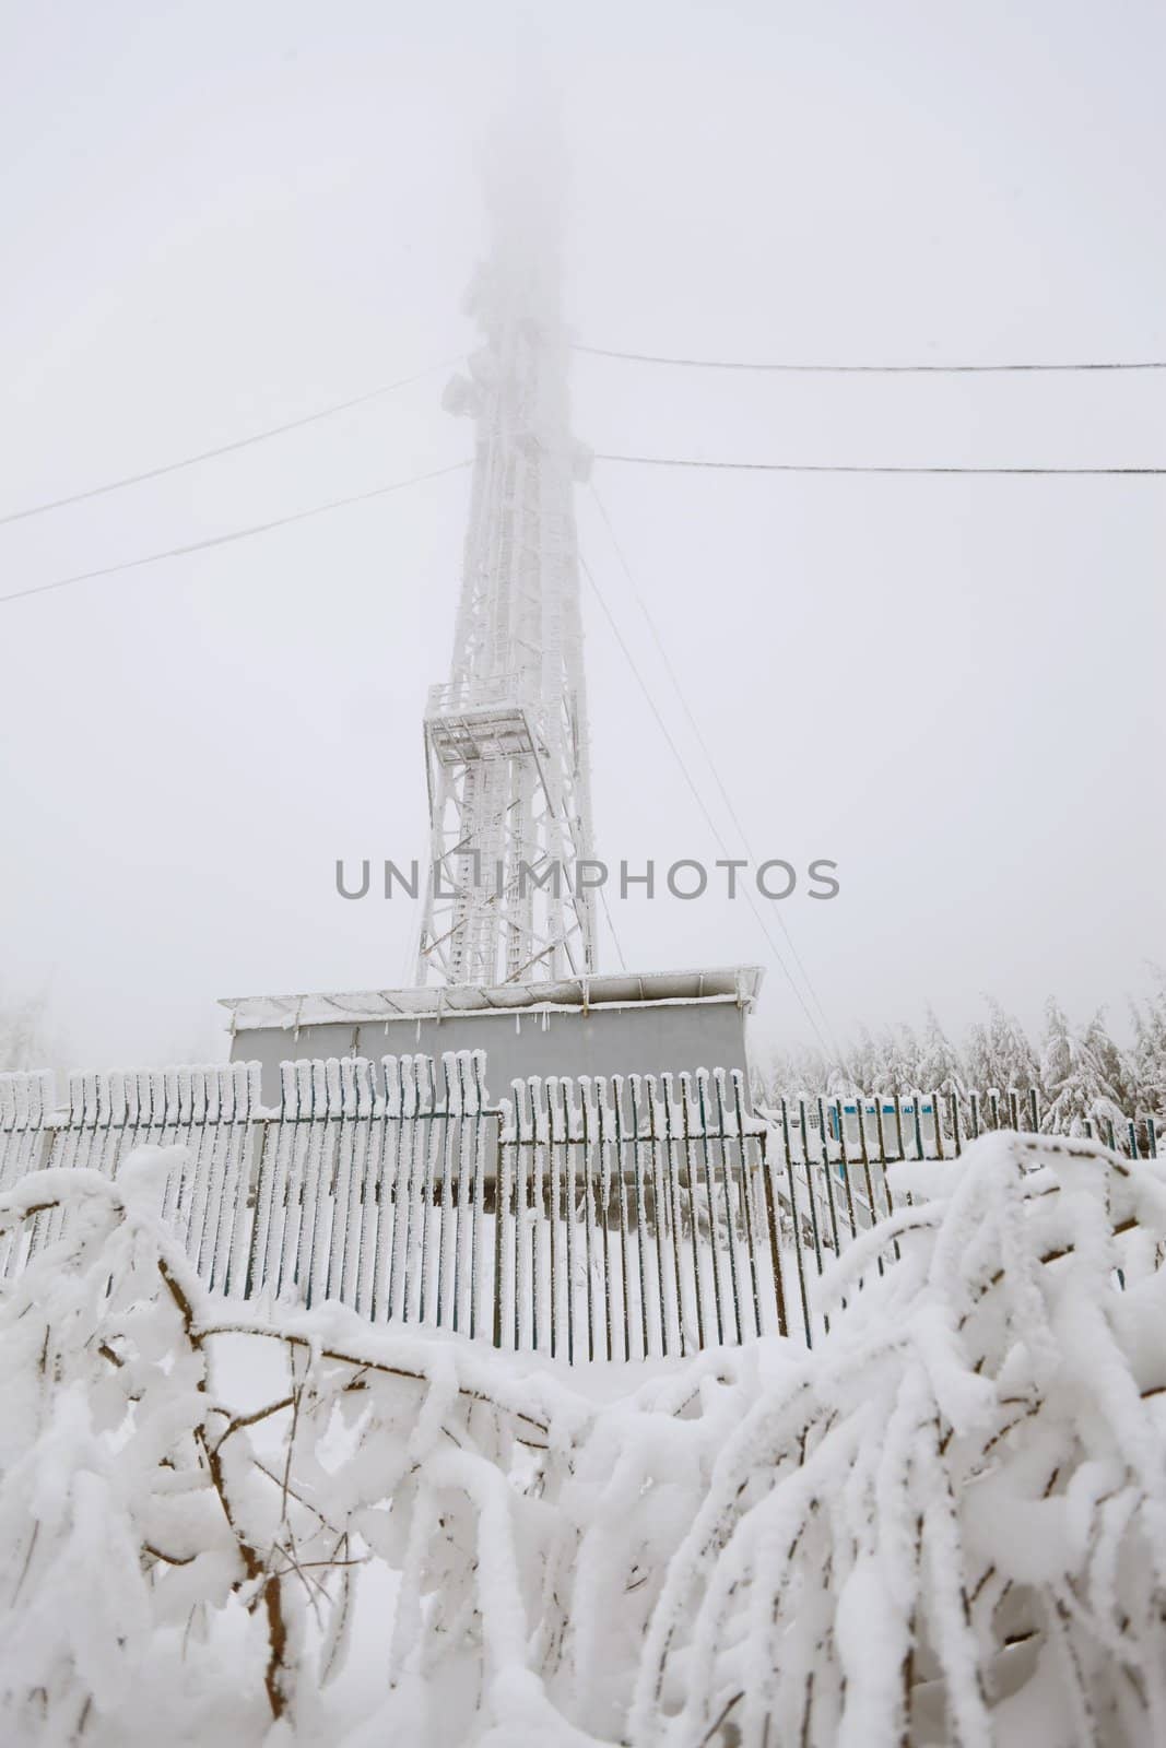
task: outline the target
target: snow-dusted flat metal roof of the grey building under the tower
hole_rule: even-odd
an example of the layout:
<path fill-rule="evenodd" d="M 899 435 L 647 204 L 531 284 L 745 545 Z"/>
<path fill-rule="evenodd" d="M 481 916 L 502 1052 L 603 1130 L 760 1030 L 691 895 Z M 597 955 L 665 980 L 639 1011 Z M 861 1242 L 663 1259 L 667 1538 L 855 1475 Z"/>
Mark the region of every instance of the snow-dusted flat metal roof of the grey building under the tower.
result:
<path fill-rule="evenodd" d="M 449 984 L 425 989 L 362 989 L 344 995 L 245 995 L 219 1005 L 233 1031 L 299 1026 L 372 1024 L 386 1019 L 446 1019 L 456 1014 L 587 1012 L 593 1007 L 642 1007 L 736 1002 L 752 1010 L 760 989 L 759 965 L 696 972 L 607 972 L 554 982 Z"/>

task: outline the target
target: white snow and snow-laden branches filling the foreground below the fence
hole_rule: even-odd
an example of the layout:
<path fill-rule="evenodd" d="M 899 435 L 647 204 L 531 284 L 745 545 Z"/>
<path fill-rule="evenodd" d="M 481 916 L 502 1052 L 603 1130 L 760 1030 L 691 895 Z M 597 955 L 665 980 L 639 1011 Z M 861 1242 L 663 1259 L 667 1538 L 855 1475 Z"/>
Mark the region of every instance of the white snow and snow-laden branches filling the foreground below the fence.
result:
<path fill-rule="evenodd" d="M 168 1166 L 0 1197 L 5 1745 L 1166 1741 L 1156 1161 L 895 1168 L 813 1353 L 573 1369 L 212 1301 Z"/>

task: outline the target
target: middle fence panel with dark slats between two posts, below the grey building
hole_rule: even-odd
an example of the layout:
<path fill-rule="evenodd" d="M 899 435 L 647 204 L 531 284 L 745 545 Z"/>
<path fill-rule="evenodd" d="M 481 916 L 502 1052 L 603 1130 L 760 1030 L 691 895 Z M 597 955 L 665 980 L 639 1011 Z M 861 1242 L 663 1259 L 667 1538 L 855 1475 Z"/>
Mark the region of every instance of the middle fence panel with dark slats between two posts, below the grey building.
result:
<path fill-rule="evenodd" d="M 739 1072 L 516 1080 L 495 1344 L 635 1360 L 788 1334 L 767 1141 Z"/>

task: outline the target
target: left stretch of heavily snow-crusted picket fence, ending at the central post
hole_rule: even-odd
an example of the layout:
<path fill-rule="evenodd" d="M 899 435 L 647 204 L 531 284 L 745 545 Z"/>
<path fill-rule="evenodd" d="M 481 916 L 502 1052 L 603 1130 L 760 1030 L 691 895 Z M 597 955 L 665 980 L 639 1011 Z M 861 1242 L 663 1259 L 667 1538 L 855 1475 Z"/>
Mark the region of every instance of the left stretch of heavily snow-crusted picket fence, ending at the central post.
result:
<path fill-rule="evenodd" d="M 135 1147 L 182 1147 L 161 1213 L 212 1292 L 313 1304 L 372 1320 L 489 1328 L 481 1253 L 498 1113 L 481 1056 L 299 1061 L 281 1101 L 259 1066 L 72 1075 L 51 1108 L 44 1075 L 0 1077 L 0 1190 L 28 1171 L 115 1176 Z M 0 1252 L 12 1273 L 59 1236 L 59 1208 Z M 481 1304 L 481 1314 L 479 1314 Z"/>

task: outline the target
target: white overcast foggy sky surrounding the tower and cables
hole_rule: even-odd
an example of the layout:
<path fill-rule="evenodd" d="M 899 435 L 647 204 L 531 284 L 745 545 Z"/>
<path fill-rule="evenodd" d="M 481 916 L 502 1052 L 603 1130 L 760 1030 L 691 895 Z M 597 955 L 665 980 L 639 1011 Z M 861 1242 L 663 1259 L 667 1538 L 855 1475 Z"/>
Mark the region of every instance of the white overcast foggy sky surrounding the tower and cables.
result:
<path fill-rule="evenodd" d="M 773 360 L 1166 357 L 1161 5 L 537 7 L 596 346 Z M 517 12 L 482 0 L 0 7 L 0 514 L 229 442 L 474 343 L 475 154 Z M 243 454 L 0 526 L 0 591 L 468 454 L 442 374 Z M 579 358 L 594 449 L 1166 463 L 1166 372 L 788 378 Z M 1166 481 L 596 467 L 834 1026 L 1086 1016 L 1163 946 Z M 337 855 L 425 846 L 467 474 L 0 605 L 0 984 L 77 1063 L 206 1056 L 215 996 L 409 981 Z M 736 834 L 591 495 L 580 544 Z M 717 855 L 584 596 L 600 851 Z M 745 904 L 615 905 L 628 961 L 759 961 Z M 607 967 L 614 965 L 605 946 Z"/>

